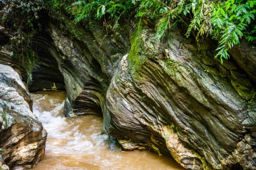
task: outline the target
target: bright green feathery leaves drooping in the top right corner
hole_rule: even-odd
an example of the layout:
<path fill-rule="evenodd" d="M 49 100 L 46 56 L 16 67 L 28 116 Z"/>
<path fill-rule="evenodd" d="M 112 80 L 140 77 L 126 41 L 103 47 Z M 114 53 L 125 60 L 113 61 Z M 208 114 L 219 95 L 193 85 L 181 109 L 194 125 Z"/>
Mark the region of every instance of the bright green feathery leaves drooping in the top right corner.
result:
<path fill-rule="evenodd" d="M 243 36 L 247 36 L 247 40 L 255 40 L 253 34 L 256 29 L 252 22 L 256 15 L 256 1 L 220 1 L 212 11 L 210 33 L 219 40 L 216 57 L 221 61 L 228 58 L 228 49 L 239 44 Z M 254 28 L 250 29 L 250 24 Z"/>

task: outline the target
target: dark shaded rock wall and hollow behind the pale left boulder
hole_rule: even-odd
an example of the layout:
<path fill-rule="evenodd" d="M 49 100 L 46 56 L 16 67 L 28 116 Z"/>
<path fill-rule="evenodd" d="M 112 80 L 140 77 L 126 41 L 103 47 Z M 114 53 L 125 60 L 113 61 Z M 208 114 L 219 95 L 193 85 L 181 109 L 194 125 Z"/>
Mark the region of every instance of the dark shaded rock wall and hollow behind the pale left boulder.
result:
<path fill-rule="evenodd" d="M 49 46 L 44 46 L 43 43 L 46 41 L 46 45 L 51 45 L 48 34 L 38 30 L 31 40 L 30 47 L 24 48 L 22 52 L 18 50 L 22 47 L 11 45 L 9 38 L 5 28 L 0 28 L 0 64 L 13 67 L 28 85 L 30 92 L 65 89 L 57 61 L 49 52 Z"/>

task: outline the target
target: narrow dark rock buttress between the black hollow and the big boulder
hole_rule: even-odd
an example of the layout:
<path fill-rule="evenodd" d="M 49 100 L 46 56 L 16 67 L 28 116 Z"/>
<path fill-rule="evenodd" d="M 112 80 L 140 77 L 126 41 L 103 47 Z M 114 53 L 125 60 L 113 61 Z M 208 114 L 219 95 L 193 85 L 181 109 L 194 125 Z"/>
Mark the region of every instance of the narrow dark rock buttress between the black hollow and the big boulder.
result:
<path fill-rule="evenodd" d="M 115 40 L 110 39 L 111 35 L 107 36 L 96 22 L 90 22 L 84 29 L 68 17 L 57 21 L 49 24 L 49 35 L 56 49 L 49 51 L 65 80 L 65 115 L 101 115 L 106 112 L 105 94 L 115 68 L 121 56 L 129 51 L 127 37 L 119 34 Z"/>

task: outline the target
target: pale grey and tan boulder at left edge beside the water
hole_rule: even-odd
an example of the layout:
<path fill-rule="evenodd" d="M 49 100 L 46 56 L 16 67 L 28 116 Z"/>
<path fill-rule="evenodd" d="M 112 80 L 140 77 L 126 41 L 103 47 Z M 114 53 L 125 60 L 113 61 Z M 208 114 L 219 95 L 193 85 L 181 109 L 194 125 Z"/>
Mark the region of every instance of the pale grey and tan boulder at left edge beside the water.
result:
<path fill-rule="evenodd" d="M 0 65 L 0 80 L 1 157 L 10 169 L 30 169 L 44 157 L 46 131 L 30 111 L 30 95 L 18 73 Z"/>

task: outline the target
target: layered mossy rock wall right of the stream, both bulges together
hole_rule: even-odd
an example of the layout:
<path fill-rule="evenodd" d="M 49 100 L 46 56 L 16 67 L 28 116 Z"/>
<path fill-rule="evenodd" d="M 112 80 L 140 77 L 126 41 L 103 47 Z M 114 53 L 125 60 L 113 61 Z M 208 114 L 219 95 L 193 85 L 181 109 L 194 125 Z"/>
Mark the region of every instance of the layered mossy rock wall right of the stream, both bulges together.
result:
<path fill-rule="evenodd" d="M 42 63 L 55 58 L 48 68 L 63 75 L 65 115 L 102 114 L 123 149 L 170 155 L 186 169 L 256 169 L 255 46 L 231 50 L 222 65 L 212 44 L 198 52 L 181 30 L 160 41 L 148 26 L 122 27 L 106 34 L 56 14 L 34 36 L 49 54 Z"/>

